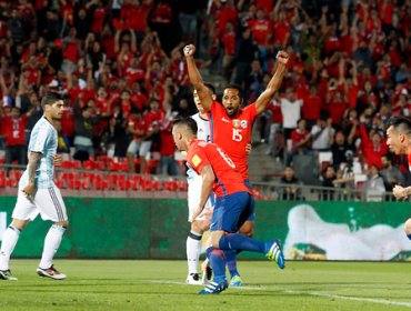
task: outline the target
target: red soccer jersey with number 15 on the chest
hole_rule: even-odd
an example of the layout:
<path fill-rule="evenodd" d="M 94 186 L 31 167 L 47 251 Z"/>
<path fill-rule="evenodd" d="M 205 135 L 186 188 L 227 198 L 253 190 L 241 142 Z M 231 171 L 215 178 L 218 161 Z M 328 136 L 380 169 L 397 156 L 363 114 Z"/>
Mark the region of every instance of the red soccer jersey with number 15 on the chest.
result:
<path fill-rule="evenodd" d="M 214 101 L 209 111 L 211 141 L 221 147 L 234 161 L 243 179 L 249 179 L 245 147 L 251 143 L 252 126 L 257 117 L 255 102 L 240 110 L 231 119 L 224 108 Z"/>

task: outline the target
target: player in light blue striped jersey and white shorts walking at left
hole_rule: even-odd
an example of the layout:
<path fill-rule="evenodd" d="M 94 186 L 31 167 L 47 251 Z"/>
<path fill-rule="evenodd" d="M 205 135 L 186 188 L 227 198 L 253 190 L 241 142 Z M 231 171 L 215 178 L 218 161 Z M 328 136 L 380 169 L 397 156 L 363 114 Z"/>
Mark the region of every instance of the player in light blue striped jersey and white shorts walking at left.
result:
<path fill-rule="evenodd" d="M 52 260 L 60 247 L 62 235 L 69 224 L 66 205 L 60 190 L 53 182 L 54 165 L 62 162 L 57 154 L 58 134 L 54 120 L 60 120 L 63 100 L 57 93 L 47 93 L 41 101 L 43 117 L 36 123 L 29 141 L 29 163 L 19 181 L 12 222 L 6 230 L 0 249 L 0 279 L 16 281 L 9 269 L 10 255 L 21 231 L 30 220 L 40 213 L 43 220 L 52 221 L 44 239 L 43 252 L 37 273 L 54 280 L 66 279 L 66 274 L 54 269 Z"/>

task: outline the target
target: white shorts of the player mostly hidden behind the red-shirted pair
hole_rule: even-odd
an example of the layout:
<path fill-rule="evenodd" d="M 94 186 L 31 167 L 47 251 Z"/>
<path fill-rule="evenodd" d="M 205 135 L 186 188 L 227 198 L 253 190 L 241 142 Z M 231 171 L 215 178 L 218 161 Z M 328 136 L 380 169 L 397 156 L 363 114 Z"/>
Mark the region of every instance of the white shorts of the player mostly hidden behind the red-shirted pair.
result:
<path fill-rule="evenodd" d="M 202 187 L 202 177 L 193 174 L 192 178 L 188 179 L 188 201 L 189 201 L 189 221 L 191 215 L 200 203 L 200 194 Z M 212 210 L 214 209 L 214 193 L 211 193 L 210 198 L 206 202 L 206 207 L 202 213 L 199 214 L 196 220 L 211 220 Z"/>

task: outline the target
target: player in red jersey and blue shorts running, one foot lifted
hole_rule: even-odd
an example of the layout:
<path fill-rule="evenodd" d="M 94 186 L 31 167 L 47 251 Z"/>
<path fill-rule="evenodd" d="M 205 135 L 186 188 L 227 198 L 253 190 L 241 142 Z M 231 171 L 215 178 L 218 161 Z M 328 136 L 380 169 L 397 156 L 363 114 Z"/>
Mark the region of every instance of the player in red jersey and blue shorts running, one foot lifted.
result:
<path fill-rule="evenodd" d="M 210 227 L 211 245 L 207 249 L 214 278 L 199 293 L 219 293 L 228 288 L 223 250 L 264 253 L 283 269 L 284 257 L 278 240 L 264 243 L 235 233 L 253 213 L 253 205 L 250 190 L 232 160 L 218 146 L 197 139 L 197 123 L 191 118 L 176 120 L 172 136 L 177 148 L 187 151 L 188 163 L 203 180 L 200 203 L 192 219 L 203 211 L 212 191 L 217 198 Z"/>

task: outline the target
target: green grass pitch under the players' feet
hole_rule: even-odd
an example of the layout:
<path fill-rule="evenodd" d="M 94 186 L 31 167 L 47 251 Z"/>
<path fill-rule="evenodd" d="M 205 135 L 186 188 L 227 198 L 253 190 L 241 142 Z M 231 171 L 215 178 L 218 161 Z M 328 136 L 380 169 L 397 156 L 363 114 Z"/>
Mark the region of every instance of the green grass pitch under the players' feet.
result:
<path fill-rule="evenodd" d="M 68 274 L 36 274 L 38 260 L 12 260 L 19 281 L 0 281 L 0 310 L 411 310 L 411 264 L 240 261 L 243 288 L 199 295 L 184 261 L 57 260 Z"/>

